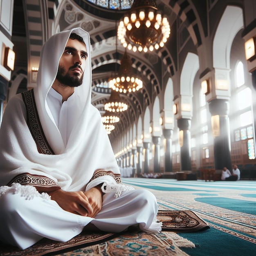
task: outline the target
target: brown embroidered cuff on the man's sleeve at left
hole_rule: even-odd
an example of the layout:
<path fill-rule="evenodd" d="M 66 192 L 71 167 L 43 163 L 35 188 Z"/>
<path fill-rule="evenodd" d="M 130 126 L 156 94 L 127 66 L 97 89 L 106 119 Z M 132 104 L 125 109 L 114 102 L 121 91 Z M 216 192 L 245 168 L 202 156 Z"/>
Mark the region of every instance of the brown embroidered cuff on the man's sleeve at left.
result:
<path fill-rule="evenodd" d="M 21 185 L 30 185 L 35 187 L 51 188 L 46 189 L 47 191 L 53 191 L 55 189 L 60 189 L 60 186 L 56 184 L 53 180 L 43 175 L 34 175 L 30 173 L 21 173 L 15 176 L 7 186 L 10 186 L 13 183 L 19 183 Z M 54 189 L 52 189 L 54 188 Z M 44 189 L 45 191 L 45 189 Z"/>

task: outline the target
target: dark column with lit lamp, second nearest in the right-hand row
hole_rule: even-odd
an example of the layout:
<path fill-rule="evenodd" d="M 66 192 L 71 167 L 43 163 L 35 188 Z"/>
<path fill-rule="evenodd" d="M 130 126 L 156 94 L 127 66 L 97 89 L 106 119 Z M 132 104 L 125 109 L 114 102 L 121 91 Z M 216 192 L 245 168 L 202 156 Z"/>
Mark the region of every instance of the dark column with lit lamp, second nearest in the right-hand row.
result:
<path fill-rule="evenodd" d="M 191 120 L 181 118 L 177 120 L 180 130 L 183 130 L 183 146 L 180 148 L 180 170 L 191 171 L 190 127 Z"/>

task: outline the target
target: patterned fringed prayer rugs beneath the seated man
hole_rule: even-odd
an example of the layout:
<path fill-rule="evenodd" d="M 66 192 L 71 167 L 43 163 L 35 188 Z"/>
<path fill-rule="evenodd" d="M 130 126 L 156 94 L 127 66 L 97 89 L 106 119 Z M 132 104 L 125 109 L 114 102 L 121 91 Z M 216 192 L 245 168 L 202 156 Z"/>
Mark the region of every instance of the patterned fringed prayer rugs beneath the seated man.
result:
<path fill-rule="evenodd" d="M 195 247 L 189 240 L 170 231 L 193 232 L 208 229 L 209 225 L 192 211 L 158 211 L 157 219 L 163 223 L 159 234 L 148 234 L 136 227 L 114 233 L 82 232 L 66 243 L 42 239 L 25 250 L 0 244 L 0 256 L 42 256 L 42 255 L 181 255 L 179 247 Z"/>

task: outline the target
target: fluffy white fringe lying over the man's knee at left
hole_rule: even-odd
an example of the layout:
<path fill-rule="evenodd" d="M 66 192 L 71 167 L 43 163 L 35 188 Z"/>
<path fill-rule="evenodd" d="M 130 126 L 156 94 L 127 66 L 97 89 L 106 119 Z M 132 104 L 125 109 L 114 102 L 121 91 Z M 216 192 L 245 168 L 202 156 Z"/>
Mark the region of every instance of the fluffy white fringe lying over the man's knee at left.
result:
<path fill-rule="evenodd" d="M 51 197 L 47 193 L 39 193 L 34 186 L 22 186 L 19 183 L 13 183 L 11 186 L 0 186 L 0 197 L 10 190 L 13 190 L 13 194 L 20 192 L 21 196 L 24 196 L 27 200 L 31 200 L 35 196 L 45 200 L 51 200 Z"/>

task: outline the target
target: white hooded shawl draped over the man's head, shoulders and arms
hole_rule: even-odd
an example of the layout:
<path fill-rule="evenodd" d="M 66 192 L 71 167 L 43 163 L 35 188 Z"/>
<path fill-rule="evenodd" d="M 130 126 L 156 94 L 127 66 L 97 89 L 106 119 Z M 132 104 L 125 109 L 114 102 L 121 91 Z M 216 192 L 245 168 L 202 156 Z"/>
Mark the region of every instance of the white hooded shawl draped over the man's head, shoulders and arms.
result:
<path fill-rule="evenodd" d="M 64 146 L 46 97 L 55 80 L 58 63 L 71 32 L 83 38 L 88 58 L 83 84 L 75 88 L 80 99 L 77 110 L 80 118 L 74 124 L 67 146 Z M 49 38 L 41 51 L 34 95 L 40 123 L 55 155 L 38 153 L 27 126 L 25 104 L 21 95 L 17 94 L 7 104 L 0 129 L 0 186 L 7 185 L 13 178 L 15 180 L 17 175 L 29 173 L 32 175 L 29 182 L 38 182 L 39 179 L 43 189 L 54 186 L 54 183 L 65 191 L 84 191 L 101 183 L 105 184 L 106 191 L 110 188 L 119 192 L 120 189 L 127 189 L 120 184 L 119 167 L 101 115 L 91 104 L 91 82 L 89 34 L 81 28 L 75 28 Z M 41 181 L 40 175 L 43 176 Z"/>

